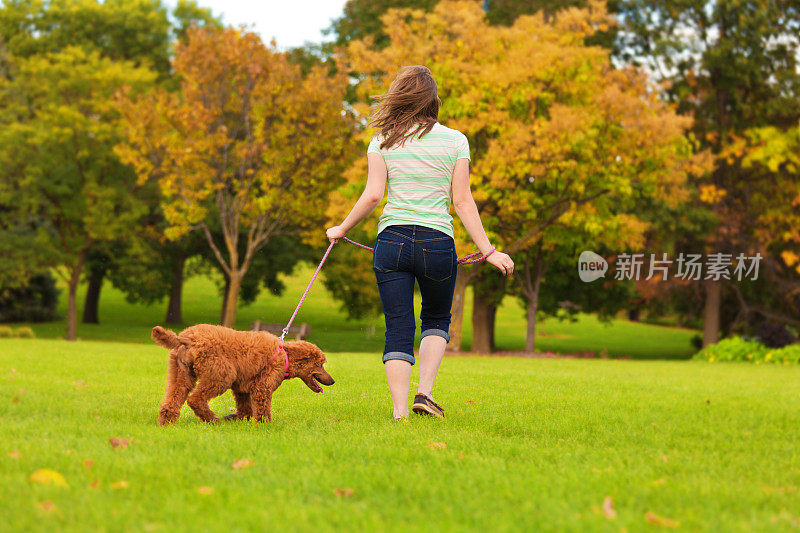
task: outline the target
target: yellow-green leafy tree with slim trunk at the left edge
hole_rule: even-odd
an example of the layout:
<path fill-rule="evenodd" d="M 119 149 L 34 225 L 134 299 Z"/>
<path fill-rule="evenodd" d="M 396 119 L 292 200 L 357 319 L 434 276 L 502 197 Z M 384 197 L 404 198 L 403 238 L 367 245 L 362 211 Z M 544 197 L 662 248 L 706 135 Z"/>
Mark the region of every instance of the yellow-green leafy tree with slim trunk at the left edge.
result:
<path fill-rule="evenodd" d="M 0 81 L 0 216 L 30 222 L 30 249 L 66 283 L 70 340 L 89 249 L 124 236 L 141 212 L 136 176 L 113 152 L 121 138 L 114 94 L 123 85 L 137 94 L 154 78 L 130 62 L 66 48 L 18 59 Z"/>

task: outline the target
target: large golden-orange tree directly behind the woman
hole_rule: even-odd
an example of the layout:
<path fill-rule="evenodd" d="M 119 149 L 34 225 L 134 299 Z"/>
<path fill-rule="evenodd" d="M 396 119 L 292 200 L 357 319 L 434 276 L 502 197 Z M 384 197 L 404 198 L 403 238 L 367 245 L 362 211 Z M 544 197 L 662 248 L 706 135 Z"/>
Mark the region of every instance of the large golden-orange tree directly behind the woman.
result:
<path fill-rule="evenodd" d="M 693 165 L 684 137 L 691 120 L 659 101 L 643 75 L 615 69 L 606 49 L 585 44 L 613 23 L 600 2 L 496 27 L 475 2 L 443 1 L 430 13 L 390 11 L 383 23 L 390 46 L 353 41 L 343 57 L 349 71 L 362 73 L 356 109 L 366 114 L 369 95 L 382 92 L 399 67 L 431 69 L 440 119 L 470 140 L 471 182 L 490 238 L 516 254 L 533 350 L 542 263 L 554 251 L 571 252 L 575 235 L 641 246 L 647 224 L 636 199 L 680 200 Z M 459 270 L 458 331 L 456 306 L 479 269 Z M 487 305 L 479 292 L 474 313 Z M 473 350 L 490 348 L 491 327 L 475 328 Z"/>

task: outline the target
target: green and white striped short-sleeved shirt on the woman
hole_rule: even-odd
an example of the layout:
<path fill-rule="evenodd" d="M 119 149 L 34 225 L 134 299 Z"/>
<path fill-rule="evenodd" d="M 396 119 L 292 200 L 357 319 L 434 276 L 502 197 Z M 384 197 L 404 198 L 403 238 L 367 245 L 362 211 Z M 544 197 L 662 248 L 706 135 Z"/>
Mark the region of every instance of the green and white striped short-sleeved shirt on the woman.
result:
<path fill-rule="evenodd" d="M 467 137 L 438 122 L 403 146 L 381 149 L 380 134 L 367 153 L 381 154 L 388 170 L 388 198 L 378 221 L 378 233 L 387 226 L 416 224 L 453 236 L 450 199 L 456 160 L 469 159 Z"/>

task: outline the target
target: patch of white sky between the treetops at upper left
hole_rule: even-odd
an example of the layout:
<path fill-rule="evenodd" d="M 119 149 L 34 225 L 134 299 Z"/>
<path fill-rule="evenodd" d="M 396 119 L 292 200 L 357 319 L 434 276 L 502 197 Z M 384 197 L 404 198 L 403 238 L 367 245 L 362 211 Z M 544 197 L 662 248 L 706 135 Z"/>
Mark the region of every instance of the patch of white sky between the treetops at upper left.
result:
<path fill-rule="evenodd" d="M 198 0 L 230 26 L 252 25 L 265 42 L 280 48 L 320 42 L 322 30 L 342 14 L 345 0 Z M 325 39 L 330 40 L 330 38 Z"/>

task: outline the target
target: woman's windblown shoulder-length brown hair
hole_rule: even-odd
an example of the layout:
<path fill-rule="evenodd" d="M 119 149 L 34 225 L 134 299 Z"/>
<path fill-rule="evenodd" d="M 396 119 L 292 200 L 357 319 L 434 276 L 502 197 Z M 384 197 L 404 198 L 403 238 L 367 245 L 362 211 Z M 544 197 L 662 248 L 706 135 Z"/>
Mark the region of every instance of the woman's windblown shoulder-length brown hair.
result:
<path fill-rule="evenodd" d="M 402 146 L 416 134 L 431 131 L 439 119 L 439 92 L 428 67 L 403 67 L 385 94 L 378 100 L 369 125 L 380 128 L 381 148 Z M 416 127 L 414 127 L 416 126 Z M 413 129 L 412 129 L 413 128 Z"/>

